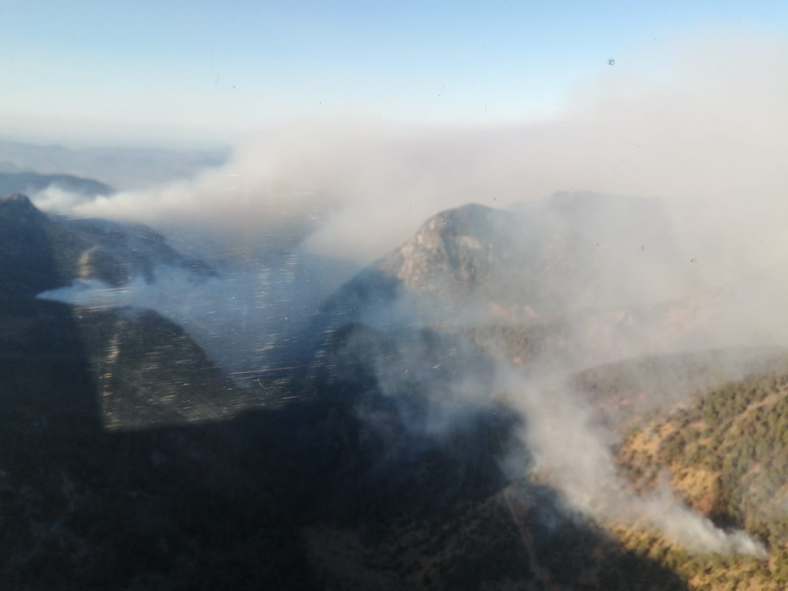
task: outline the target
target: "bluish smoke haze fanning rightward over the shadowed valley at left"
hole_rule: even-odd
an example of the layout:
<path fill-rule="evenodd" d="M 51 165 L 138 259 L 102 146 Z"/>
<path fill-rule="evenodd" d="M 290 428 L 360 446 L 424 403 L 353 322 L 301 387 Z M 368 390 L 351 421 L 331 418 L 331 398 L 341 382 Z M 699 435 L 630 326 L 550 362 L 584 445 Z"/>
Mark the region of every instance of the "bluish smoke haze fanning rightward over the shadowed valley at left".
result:
<path fill-rule="evenodd" d="M 136 277 L 112 288 L 87 280 L 40 297 L 97 309 L 156 310 L 187 329 L 243 384 L 251 374 L 292 361 L 289 356 L 301 348 L 299 333 L 308 328 L 325 292 L 337 287 L 330 275 L 336 272 L 330 262 L 283 255 L 255 269 L 225 269 L 221 277 L 195 279 L 188 271 L 159 267 L 153 283 Z"/>

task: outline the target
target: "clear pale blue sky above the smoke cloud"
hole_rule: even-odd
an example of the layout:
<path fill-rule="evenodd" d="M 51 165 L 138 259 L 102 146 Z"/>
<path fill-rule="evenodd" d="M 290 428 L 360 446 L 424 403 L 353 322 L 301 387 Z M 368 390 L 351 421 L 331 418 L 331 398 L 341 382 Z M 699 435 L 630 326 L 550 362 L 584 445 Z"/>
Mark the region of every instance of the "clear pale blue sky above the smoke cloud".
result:
<path fill-rule="evenodd" d="M 0 22 L 6 133 L 221 143 L 294 118 L 551 117 L 608 58 L 788 31 L 788 3 L 2 0 Z"/>

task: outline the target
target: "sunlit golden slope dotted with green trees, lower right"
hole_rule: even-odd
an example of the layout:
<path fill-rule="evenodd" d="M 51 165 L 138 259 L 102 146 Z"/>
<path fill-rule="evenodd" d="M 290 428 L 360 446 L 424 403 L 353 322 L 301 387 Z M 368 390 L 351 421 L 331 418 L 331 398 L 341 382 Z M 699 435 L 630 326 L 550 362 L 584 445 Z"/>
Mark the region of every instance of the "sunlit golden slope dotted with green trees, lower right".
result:
<path fill-rule="evenodd" d="M 722 526 L 743 527 L 768 559 L 691 556 L 659 537 L 616 537 L 660 559 L 697 589 L 780 589 L 788 583 L 788 367 L 730 382 L 667 418 L 632 429 L 619 466 L 635 489 L 667 478 L 686 503 Z"/>

